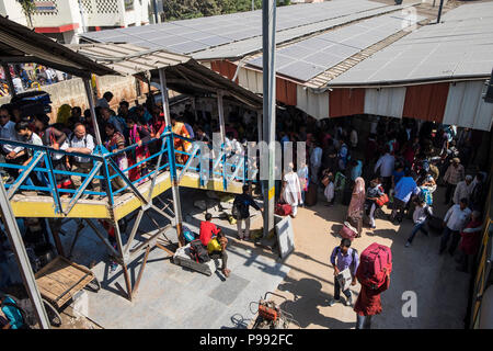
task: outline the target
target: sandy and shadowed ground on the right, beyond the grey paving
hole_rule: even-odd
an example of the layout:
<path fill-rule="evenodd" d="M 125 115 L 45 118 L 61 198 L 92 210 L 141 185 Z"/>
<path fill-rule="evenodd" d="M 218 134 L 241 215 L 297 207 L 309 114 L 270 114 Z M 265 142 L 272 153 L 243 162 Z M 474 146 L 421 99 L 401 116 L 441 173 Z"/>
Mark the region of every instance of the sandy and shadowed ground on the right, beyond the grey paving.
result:
<path fill-rule="evenodd" d="M 349 329 L 356 321 L 353 307 L 329 306 L 334 293 L 330 254 L 341 241 L 336 234 L 347 207 L 340 204 L 328 207 L 326 202 L 321 201 L 322 196 L 319 194 L 316 206 L 300 208 L 294 219 L 296 251 L 285 262 L 290 272 L 277 290 L 288 302 L 275 301 L 295 316 L 301 328 Z M 444 188 L 438 188 L 435 213 L 442 217 L 447 210 L 443 200 Z M 387 208 L 385 212 L 390 213 Z M 359 253 L 372 242 L 389 246 L 392 250 L 390 288 L 381 295 L 383 310 L 374 318 L 372 328 L 463 328 L 470 275 L 456 271 L 457 263 L 448 252 L 438 256 L 440 236 L 431 233 L 426 237 L 419 233 L 413 245 L 405 248 L 412 229 L 411 219 L 404 219 L 400 226 L 377 219 L 376 225 L 374 230 L 364 228 L 362 238 L 353 241 Z M 360 285 L 351 290 L 356 302 Z M 416 294 L 415 318 L 402 315 L 402 295 L 408 291 Z"/>

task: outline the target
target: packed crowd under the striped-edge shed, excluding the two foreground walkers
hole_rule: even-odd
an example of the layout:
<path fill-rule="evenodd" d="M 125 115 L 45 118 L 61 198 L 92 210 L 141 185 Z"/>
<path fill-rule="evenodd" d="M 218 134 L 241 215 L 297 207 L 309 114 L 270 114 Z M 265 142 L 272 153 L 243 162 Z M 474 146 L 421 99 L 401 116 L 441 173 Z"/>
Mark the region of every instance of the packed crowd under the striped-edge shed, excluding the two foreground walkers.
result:
<path fill-rule="evenodd" d="M 313 193 L 322 190 L 328 206 L 335 199 L 348 206 L 345 220 L 359 237 L 364 226 L 376 229 L 375 218 L 383 214 L 382 206 L 387 205 L 391 208 L 390 222 L 399 224 L 405 214 L 413 218 L 415 227 L 406 242 L 410 247 L 417 231 L 427 233 L 424 223 L 434 218 L 434 194 L 443 185 L 443 203 L 454 205 L 451 218 L 458 216 L 454 215 L 457 208 L 467 208 L 462 210 L 466 212 L 460 224 L 448 227 L 456 233 L 449 252 L 455 251 L 459 233 L 472 220 L 472 214 L 481 217 L 488 174 L 477 166 L 469 167 L 481 144 L 481 137 L 469 128 L 458 131 L 456 126 L 431 122 L 380 117 L 370 123 L 368 138 L 358 140 L 357 129 L 351 123 L 345 125 L 347 120 L 312 125 L 296 118 L 283 121 L 278 136 L 282 143 L 307 144 L 308 165 L 297 170 L 289 165 L 279 186 L 278 201 L 291 205 L 291 216 L 307 196 L 317 196 Z M 448 219 L 447 215 L 445 222 Z M 444 238 L 447 241 L 446 235 Z"/>

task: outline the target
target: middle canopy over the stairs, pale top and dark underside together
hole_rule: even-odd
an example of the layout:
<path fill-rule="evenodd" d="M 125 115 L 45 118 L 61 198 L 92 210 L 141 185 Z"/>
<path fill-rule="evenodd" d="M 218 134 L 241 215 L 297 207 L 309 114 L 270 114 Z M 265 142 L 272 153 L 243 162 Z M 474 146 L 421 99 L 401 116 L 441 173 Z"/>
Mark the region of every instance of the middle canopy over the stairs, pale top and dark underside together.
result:
<path fill-rule="evenodd" d="M 193 58 L 162 49 L 147 49 L 131 44 L 67 45 L 77 53 L 125 76 L 160 83 L 159 69 L 167 75 L 167 87 L 188 95 L 221 92 L 226 97 L 262 109 L 262 98 L 198 64 Z M 150 73 L 150 76 L 148 75 Z"/>

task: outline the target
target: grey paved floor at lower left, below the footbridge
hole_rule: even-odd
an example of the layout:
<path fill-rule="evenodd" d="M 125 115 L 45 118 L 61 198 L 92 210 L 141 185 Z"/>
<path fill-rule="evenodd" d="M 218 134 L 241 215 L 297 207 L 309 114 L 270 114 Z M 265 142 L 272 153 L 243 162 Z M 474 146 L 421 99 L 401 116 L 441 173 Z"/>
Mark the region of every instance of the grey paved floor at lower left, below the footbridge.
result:
<path fill-rule="evenodd" d="M 209 212 L 214 201 L 204 191 L 196 190 L 183 190 L 182 199 L 186 225 L 197 230 L 205 212 L 194 207 L 194 201 L 207 199 Z M 161 225 L 168 224 L 167 219 L 154 217 Z M 255 216 L 252 227 L 259 227 L 261 218 Z M 231 275 L 228 279 L 219 271 L 207 276 L 175 265 L 167 252 L 156 248 L 149 254 L 140 286 L 131 302 L 124 297 L 121 288 L 126 286 L 122 269 L 118 267 L 115 272 L 110 272 L 106 248 L 91 230 L 84 229 L 72 260 L 88 267 L 94 262 L 92 270 L 101 281 L 102 290 L 84 292 L 71 307 L 103 328 L 246 328 L 256 312 L 253 305 L 253 313 L 250 310 L 250 303 L 257 302 L 267 291 L 275 291 L 289 268 L 276 262 L 277 257 L 271 251 L 255 247 L 253 242 L 237 240 L 236 226 L 217 218 L 214 222 L 230 238 L 228 268 Z M 142 220 L 140 228 L 153 229 L 149 223 L 148 219 Z M 67 224 L 66 231 L 71 234 L 62 237 L 66 251 L 70 248 L 74 228 L 74 222 Z M 173 231 L 168 235 L 176 241 Z M 136 263 L 129 267 L 133 282 L 138 275 Z"/>

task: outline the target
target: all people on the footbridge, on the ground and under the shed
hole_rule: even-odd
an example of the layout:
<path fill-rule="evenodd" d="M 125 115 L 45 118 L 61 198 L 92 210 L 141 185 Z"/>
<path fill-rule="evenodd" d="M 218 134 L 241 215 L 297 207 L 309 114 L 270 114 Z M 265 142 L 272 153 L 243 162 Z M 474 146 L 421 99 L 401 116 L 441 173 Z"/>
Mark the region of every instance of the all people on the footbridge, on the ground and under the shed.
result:
<path fill-rule="evenodd" d="M 130 181 L 144 181 L 154 167 L 152 160 L 145 160 L 159 150 L 159 138 L 164 133 L 162 107 L 152 103 L 152 100 L 131 107 L 128 102 L 121 101 L 114 111 L 112 106 L 116 104 L 113 99 L 111 92 L 105 92 L 98 100 L 95 110 L 99 137 L 108 151 L 117 152 L 114 160 L 122 171 L 138 165 L 127 172 Z M 227 121 L 226 147 L 229 155 L 242 152 L 241 146 L 246 140 L 257 139 L 257 124 L 253 112 L 232 107 Z M 455 126 L 436 125 L 432 122 L 375 117 L 369 122 L 369 135 L 363 138 L 356 121 L 314 121 L 294 107 L 279 113 L 277 140 L 280 144 L 305 141 L 307 162 L 296 167 L 289 163 L 286 167 L 282 179 L 276 181 L 276 202 L 289 204 L 290 215 L 295 217 L 299 206 L 313 204 L 313 196 L 317 199 L 319 192 L 323 193 L 328 206 L 333 206 L 335 202 L 347 206 L 343 222 L 354 234 L 351 239 L 360 237 L 365 226 L 369 230 L 376 230 L 376 217 L 383 216 L 382 207 L 387 205 L 391 213 L 385 218 L 399 225 L 408 216 L 414 224 L 405 242 L 406 248 L 412 246 L 419 233 L 428 235 L 426 224 L 432 227 L 438 220 L 443 236 L 437 253 L 442 254 L 448 248 L 449 254 L 454 256 L 459 247 L 458 269 L 470 270 L 472 257 L 480 246 L 479 233 L 488 189 L 488 174 L 471 166 L 481 145 L 481 137 L 468 128 L 458 131 Z M 213 133 L 219 131 L 218 121 L 211 117 L 210 112 L 194 110 L 190 103 L 182 113 L 172 112 L 171 122 L 172 132 L 184 137 L 174 138 L 174 147 L 181 151 L 191 151 L 193 140 L 210 145 Z M 79 106 L 61 106 L 57 121 L 53 124 L 47 115 L 25 117 L 15 105 L 0 106 L 1 138 L 78 154 L 72 157 L 54 154 L 53 167 L 58 170 L 90 172 L 92 161 L 82 155 L 94 152 L 95 131 L 90 111 L 82 112 Z M 135 146 L 131 151 L 118 152 L 131 145 Z M 297 159 L 296 151 L 295 149 L 294 159 Z M 26 166 L 33 157 L 32 152 L 22 147 L 2 145 L 2 162 Z M 186 155 L 176 155 L 176 162 L 184 163 L 186 160 Z M 19 176 L 14 168 L 2 172 L 7 181 Z M 26 180 L 26 184 L 47 184 L 44 174 L 33 174 Z M 82 179 L 77 174 L 56 174 L 56 182 L 60 189 L 77 189 Z M 445 195 L 437 200 L 435 194 L 439 185 L 445 188 Z M 125 184 L 121 178 L 115 178 L 112 186 L 122 189 Z M 94 179 L 91 191 L 100 193 L 103 190 L 104 184 Z M 94 196 L 99 197 L 96 194 Z M 437 218 L 434 213 L 436 201 L 450 205 L 443 219 Z M 233 204 L 239 239 L 249 239 L 250 206 L 261 210 L 253 201 L 250 188 L 244 186 L 243 193 L 236 197 Z M 222 259 L 221 271 L 225 276 L 229 276 L 226 253 L 228 241 L 211 224 L 210 216 L 205 219 L 200 225 L 202 245 L 208 249 L 209 256 Z M 111 228 L 107 229 L 110 233 Z M 213 240 L 216 240 L 215 245 L 210 246 Z M 357 251 L 351 248 L 351 240 L 343 239 L 331 254 L 334 275 L 348 269 L 348 279 L 354 285 L 358 260 Z M 387 274 L 381 292 L 388 288 L 389 280 Z M 346 296 L 346 305 L 353 305 L 351 291 L 339 282 L 334 284 L 334 299 L 330 305 L 340 301 L 341 290 Z M 358 317 L 360 328 L 369 327 L 370 318 L 363 317 L 381 310 L 379 294 L 367 292 L 366 296 L 376 305 L 368 309 L 367 306 L 362 306 L 362 302 L 356 303 L 359 306 L 358 316 L 362 317 Z"/>

